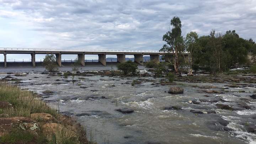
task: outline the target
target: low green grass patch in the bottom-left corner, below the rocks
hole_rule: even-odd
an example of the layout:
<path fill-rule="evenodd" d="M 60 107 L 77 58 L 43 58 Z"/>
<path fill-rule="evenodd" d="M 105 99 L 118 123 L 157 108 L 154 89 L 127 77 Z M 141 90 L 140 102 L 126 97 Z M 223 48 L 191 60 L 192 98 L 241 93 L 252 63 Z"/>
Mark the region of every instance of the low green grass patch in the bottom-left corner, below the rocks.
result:
<path fill-rule="evenodd" d="M 30 132 L 14 129 L 11 133 L 5 134 L 0 137 L 1 143 L 28 143 L 34 138 L 34 135 Z"/>

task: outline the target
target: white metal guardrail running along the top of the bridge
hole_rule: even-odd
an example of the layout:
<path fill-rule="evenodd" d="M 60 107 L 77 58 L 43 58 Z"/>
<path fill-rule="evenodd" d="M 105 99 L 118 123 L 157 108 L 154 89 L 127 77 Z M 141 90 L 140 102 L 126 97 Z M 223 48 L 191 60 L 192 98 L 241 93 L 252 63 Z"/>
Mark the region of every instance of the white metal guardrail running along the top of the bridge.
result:
<path fill-rule="evenodd" d="M 109 49 L 39 49 L 39 48 L 0 48 L 9 51 L 47 51 L 47 52 L 132 52 L 132 53 L 164 53 L 158 50 L 109 50 Z M 185 52 L 189 53 L 189 52 Z"/>

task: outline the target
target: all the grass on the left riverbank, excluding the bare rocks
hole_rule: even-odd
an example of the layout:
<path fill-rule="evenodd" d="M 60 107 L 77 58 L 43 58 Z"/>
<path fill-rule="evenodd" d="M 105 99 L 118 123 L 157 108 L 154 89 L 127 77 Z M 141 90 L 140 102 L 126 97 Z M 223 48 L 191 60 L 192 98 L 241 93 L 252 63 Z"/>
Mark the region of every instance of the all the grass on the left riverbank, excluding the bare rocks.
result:
<path fill-rule="evenodd" d="M 53 107 L 49 107 L 43 101 L 37 98 L 37 95 L 31 91 L 23 91 L 14 85 L 0 83 L 0 101 L 9 102 L 12 107 L 0 109 L 0 114 L 7 114 L 6 117 L 30 117 L 31 113 L 49 113 L 52 114 L 58 123 L 62 123 L 61 128 L 54 128 L 54 133 L 43 133 L 40 121 L 37 121 L 39 129 L 37 134 L 20 128 L 11 128 L 9 133 L 0 137 L 0 143 L 41 143 L 41 144 L 79 144 L 80 131 L 73 131 L 68 124 L 58 119 L 60 114 Z M 60 125 L 60 124 L 57 124 Z"/>

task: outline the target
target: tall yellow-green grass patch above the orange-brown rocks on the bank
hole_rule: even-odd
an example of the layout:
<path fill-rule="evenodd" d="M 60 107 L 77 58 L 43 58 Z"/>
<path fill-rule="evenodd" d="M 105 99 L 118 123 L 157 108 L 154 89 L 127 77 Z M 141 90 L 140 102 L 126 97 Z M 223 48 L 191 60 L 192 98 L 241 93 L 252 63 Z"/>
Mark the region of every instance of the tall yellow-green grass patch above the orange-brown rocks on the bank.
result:
<path fill-rule="evenodd" d="M 10 117 L 30 117 L 31 113 L 49 113 L 57 116 L 57 111 L 36 99 L 37 95 L 31 91 L 22 91 L 17 86 L 0 84 L 0 101 L 10 102 L 12 108 L 5 111 Z"/>

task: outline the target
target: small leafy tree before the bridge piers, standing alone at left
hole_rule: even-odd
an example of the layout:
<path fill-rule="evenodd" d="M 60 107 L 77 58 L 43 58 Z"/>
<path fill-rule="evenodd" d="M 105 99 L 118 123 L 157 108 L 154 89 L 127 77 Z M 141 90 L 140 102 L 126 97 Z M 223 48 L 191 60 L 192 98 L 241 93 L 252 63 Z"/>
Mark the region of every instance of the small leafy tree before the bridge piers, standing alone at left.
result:
<path fill-rule="evenodd" d="M 57 71 L 57 63 L 56 63 L 56 57 L 51 54 L 47 54 L 46 57 L 43 60 L 43 65 L 45 66 L 46 70 L 48 71 L 49 75 L 52 75 L 53 71 Z"/>

